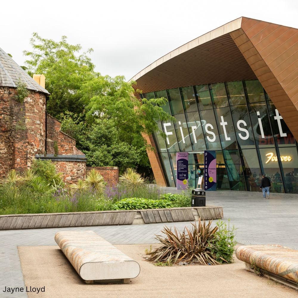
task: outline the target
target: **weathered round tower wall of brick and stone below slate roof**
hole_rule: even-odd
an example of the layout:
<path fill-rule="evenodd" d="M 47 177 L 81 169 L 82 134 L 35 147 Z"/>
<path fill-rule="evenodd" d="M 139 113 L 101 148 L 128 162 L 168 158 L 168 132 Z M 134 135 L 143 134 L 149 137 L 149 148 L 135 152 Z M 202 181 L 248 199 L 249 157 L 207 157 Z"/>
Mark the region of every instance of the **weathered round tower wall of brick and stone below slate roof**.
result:
<path fill-rule="evenodd" d="M 0 87 L 1 177 L 12 168 L 27 169 L 35 154 L 45 152 L 45 94 L 30 91 L 23 103 L 16 94 L 15 88 Z"/>

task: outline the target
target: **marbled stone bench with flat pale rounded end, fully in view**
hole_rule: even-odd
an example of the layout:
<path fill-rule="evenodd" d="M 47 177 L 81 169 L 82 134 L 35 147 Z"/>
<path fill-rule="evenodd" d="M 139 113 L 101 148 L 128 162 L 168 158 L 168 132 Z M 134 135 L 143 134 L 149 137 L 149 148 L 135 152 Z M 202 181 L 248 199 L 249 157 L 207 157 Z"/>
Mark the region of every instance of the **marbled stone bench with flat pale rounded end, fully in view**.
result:
<path fill-rule="evenodd" d="M 86 283 L 129 283 L 139 263 L 93 231 L 65 231 L 55 241 Z"/>

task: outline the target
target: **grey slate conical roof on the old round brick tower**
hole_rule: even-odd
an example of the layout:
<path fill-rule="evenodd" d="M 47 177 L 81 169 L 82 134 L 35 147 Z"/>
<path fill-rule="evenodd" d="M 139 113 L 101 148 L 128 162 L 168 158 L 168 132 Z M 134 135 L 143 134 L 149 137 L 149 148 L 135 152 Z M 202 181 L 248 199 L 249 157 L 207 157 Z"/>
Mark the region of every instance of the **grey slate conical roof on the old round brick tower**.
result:
<path fill-rule="evenodd" d="M 18 81 L 27 84 L 27 88 L 49 94 L 0 48 L 0 87 L 17 87 Z"/>

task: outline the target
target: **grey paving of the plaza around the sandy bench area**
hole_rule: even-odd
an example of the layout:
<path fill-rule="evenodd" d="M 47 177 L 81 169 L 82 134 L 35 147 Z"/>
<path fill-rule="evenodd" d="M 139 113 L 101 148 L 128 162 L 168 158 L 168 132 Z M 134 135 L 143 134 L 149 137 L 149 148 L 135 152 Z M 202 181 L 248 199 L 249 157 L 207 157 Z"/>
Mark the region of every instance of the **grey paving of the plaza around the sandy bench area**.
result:
<path fill-rule="evenodd" d="M 166 192 L 173 190 L 165 189 Z M 239 243 L 277 243 L 298 249 L 297 194 L 272 193 L 270 199 L 263 199 L 260 192 L 216 191 L 207 193 L 207 204 L 224 207 L 224 220 L 231 218 L 231 224 L 238 228 L 236 240 Z M 179 230 L 191 226 L 188 222 L 167 225 Z M 143 224 L 0 231 L 0 297 L 27 297 L 26 293 L 3 293 L 5 286 L 24 287 L 17 246 L 56 245 L 54 235 L 61 229 L 93 230 L 113 244 L 154 243 L 154 234 L 160 234 L 163 226 Z"/>

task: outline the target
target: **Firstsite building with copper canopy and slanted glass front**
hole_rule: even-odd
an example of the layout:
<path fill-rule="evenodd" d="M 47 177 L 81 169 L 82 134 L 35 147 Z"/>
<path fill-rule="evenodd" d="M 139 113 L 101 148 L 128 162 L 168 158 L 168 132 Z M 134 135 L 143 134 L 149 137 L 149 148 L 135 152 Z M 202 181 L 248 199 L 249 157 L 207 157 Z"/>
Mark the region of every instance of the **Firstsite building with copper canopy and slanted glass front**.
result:
<path fill-rule="evenodd" d="M 197 185 L 215 150 L 217 188 L 298 193 L 298 30 L 241 17 L 175 49 L 131 80 L 140 97 L 165 97 L 176 122 L 148 137 L 156 182 L 176 186 L 176 152 L 189 153 Z"/>

